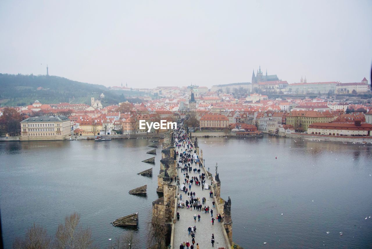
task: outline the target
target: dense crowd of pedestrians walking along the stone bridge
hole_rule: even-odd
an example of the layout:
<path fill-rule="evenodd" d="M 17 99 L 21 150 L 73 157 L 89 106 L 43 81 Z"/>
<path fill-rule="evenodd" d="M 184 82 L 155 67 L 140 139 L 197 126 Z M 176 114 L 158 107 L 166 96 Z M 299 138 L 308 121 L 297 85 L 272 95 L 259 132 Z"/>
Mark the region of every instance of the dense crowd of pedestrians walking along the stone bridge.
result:
<path fill-rule="evenodd" d="M 197 211 L 199 213 L 211 214 L 211 224 L 214 225 L 213 210 L 206 204 L 206 198 L 196 196 L 195 189 L 201 187 L 202 191 L 204 189 L 210 189 L 210 185 L 206 184 L 206 175 L 201 171 L 201 163 L 199 162 L 199 157 L 196 153 L 192 142 L 190 141 L 185 129 L 182 124 L 177 124 L 179 129 L 174 130 L 173 138 L 174 145 L 178 149 L 176 151 L 177 155 L 177 170 L 180 169 L 181 174 L 179 179 L 177 179 L 177 186 L 179 187 L 179 192 L 182 193 L 177 195 L 177 208 L 186 208 L 191 211 Z M 195 166 L 194 166 L 195 165 Z M 192 173 L 191 173 L 192 172 Z M 183 173 L 183 174 L 182 174 Z M 195 176 L 191 176 L 195 174 Z M 183 176 L 183 180 L 180 178 Z M 182 196 L 184 195 L 184 197 Z M 213 192 L 209 191 L 209 198 L 213 198 Z M 212 207 L 215 208 L 215 202 L 212 202 Z M 192 216 L 194 223 L 200 222 L 202 216 L 200 214 L 194 213 Z M 182 217 L 181 217 L 182 218 Z M 218 222 L 221 222 L 221 214 L 216 216 Z M 207 218 L 205 218 L 207 219 Z M 177 221 L 180 220 L 180 213 L 177 212 Z M 197 221 L 198 220 L 198 221 Z M 180 249 L 199 249 L 199 243 L 195 243 L 196 240 L 196 225 L 189 226 L 187 228 L 187 234 L 191 238 L 180 244 Z M 214 234 L 211 237 L 212 247 L 214 247 Z"/>

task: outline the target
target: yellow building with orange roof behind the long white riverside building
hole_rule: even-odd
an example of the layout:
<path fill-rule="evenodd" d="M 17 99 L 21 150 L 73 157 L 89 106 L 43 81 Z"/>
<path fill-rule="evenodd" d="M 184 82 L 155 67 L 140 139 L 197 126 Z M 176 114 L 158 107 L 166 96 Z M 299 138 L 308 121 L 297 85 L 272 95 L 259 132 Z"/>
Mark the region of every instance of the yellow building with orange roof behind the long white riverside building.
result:
<path fill-rule="evenodd" d="M 291 111 L 286 116 L 286 124 L 296 130 L 307 131 L 312 123 L 329 123 L 336 119 L 329 111 Z"/>

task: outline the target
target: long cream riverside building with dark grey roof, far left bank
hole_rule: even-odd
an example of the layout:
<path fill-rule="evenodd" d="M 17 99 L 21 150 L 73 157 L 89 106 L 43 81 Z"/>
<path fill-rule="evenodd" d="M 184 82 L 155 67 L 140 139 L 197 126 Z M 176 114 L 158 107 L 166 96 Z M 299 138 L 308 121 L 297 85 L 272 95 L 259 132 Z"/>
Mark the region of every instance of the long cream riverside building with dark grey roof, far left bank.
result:
<path fill-rule="evenodd" d="M 71 120 L 68 117 L 29 117 L 20 122 L 21 141 L 64 140 L 71 136 Z"/>

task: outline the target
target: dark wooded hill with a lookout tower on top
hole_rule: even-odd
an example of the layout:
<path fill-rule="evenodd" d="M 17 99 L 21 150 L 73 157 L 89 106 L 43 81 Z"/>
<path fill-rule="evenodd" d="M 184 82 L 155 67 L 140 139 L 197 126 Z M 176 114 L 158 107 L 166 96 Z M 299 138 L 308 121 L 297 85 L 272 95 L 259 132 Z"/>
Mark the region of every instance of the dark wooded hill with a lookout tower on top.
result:
<path fill-rule="evenodd" d="M 38 90 L 39 88 L 39 90 Z M 113 91 L 103 85 L 89 84 L 52 75 L 0 74 L 0 105 L 25 106 L 39 100 L 44 104 L 60 102 L 85 103 L 90 105 L 90 97 L 99 98 L 103 106 L 123 101 L 140 102 L 133 99 L 144 96 L 138 91 Z"/>

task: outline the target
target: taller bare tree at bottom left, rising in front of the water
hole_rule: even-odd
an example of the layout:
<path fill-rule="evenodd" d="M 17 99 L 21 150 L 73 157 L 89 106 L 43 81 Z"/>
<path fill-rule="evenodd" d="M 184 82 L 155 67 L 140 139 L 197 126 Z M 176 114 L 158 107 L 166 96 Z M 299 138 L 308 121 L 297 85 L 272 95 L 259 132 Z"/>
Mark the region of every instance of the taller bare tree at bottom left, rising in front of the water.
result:
<path fill-rule="evenodd" d="M 79 226 L 80 214 L 73 213 L 65 217 L 64 224 L 58 224 L 55 234 L 57 249 L 89 249 L 93 248 L 92 231 Z"/>

